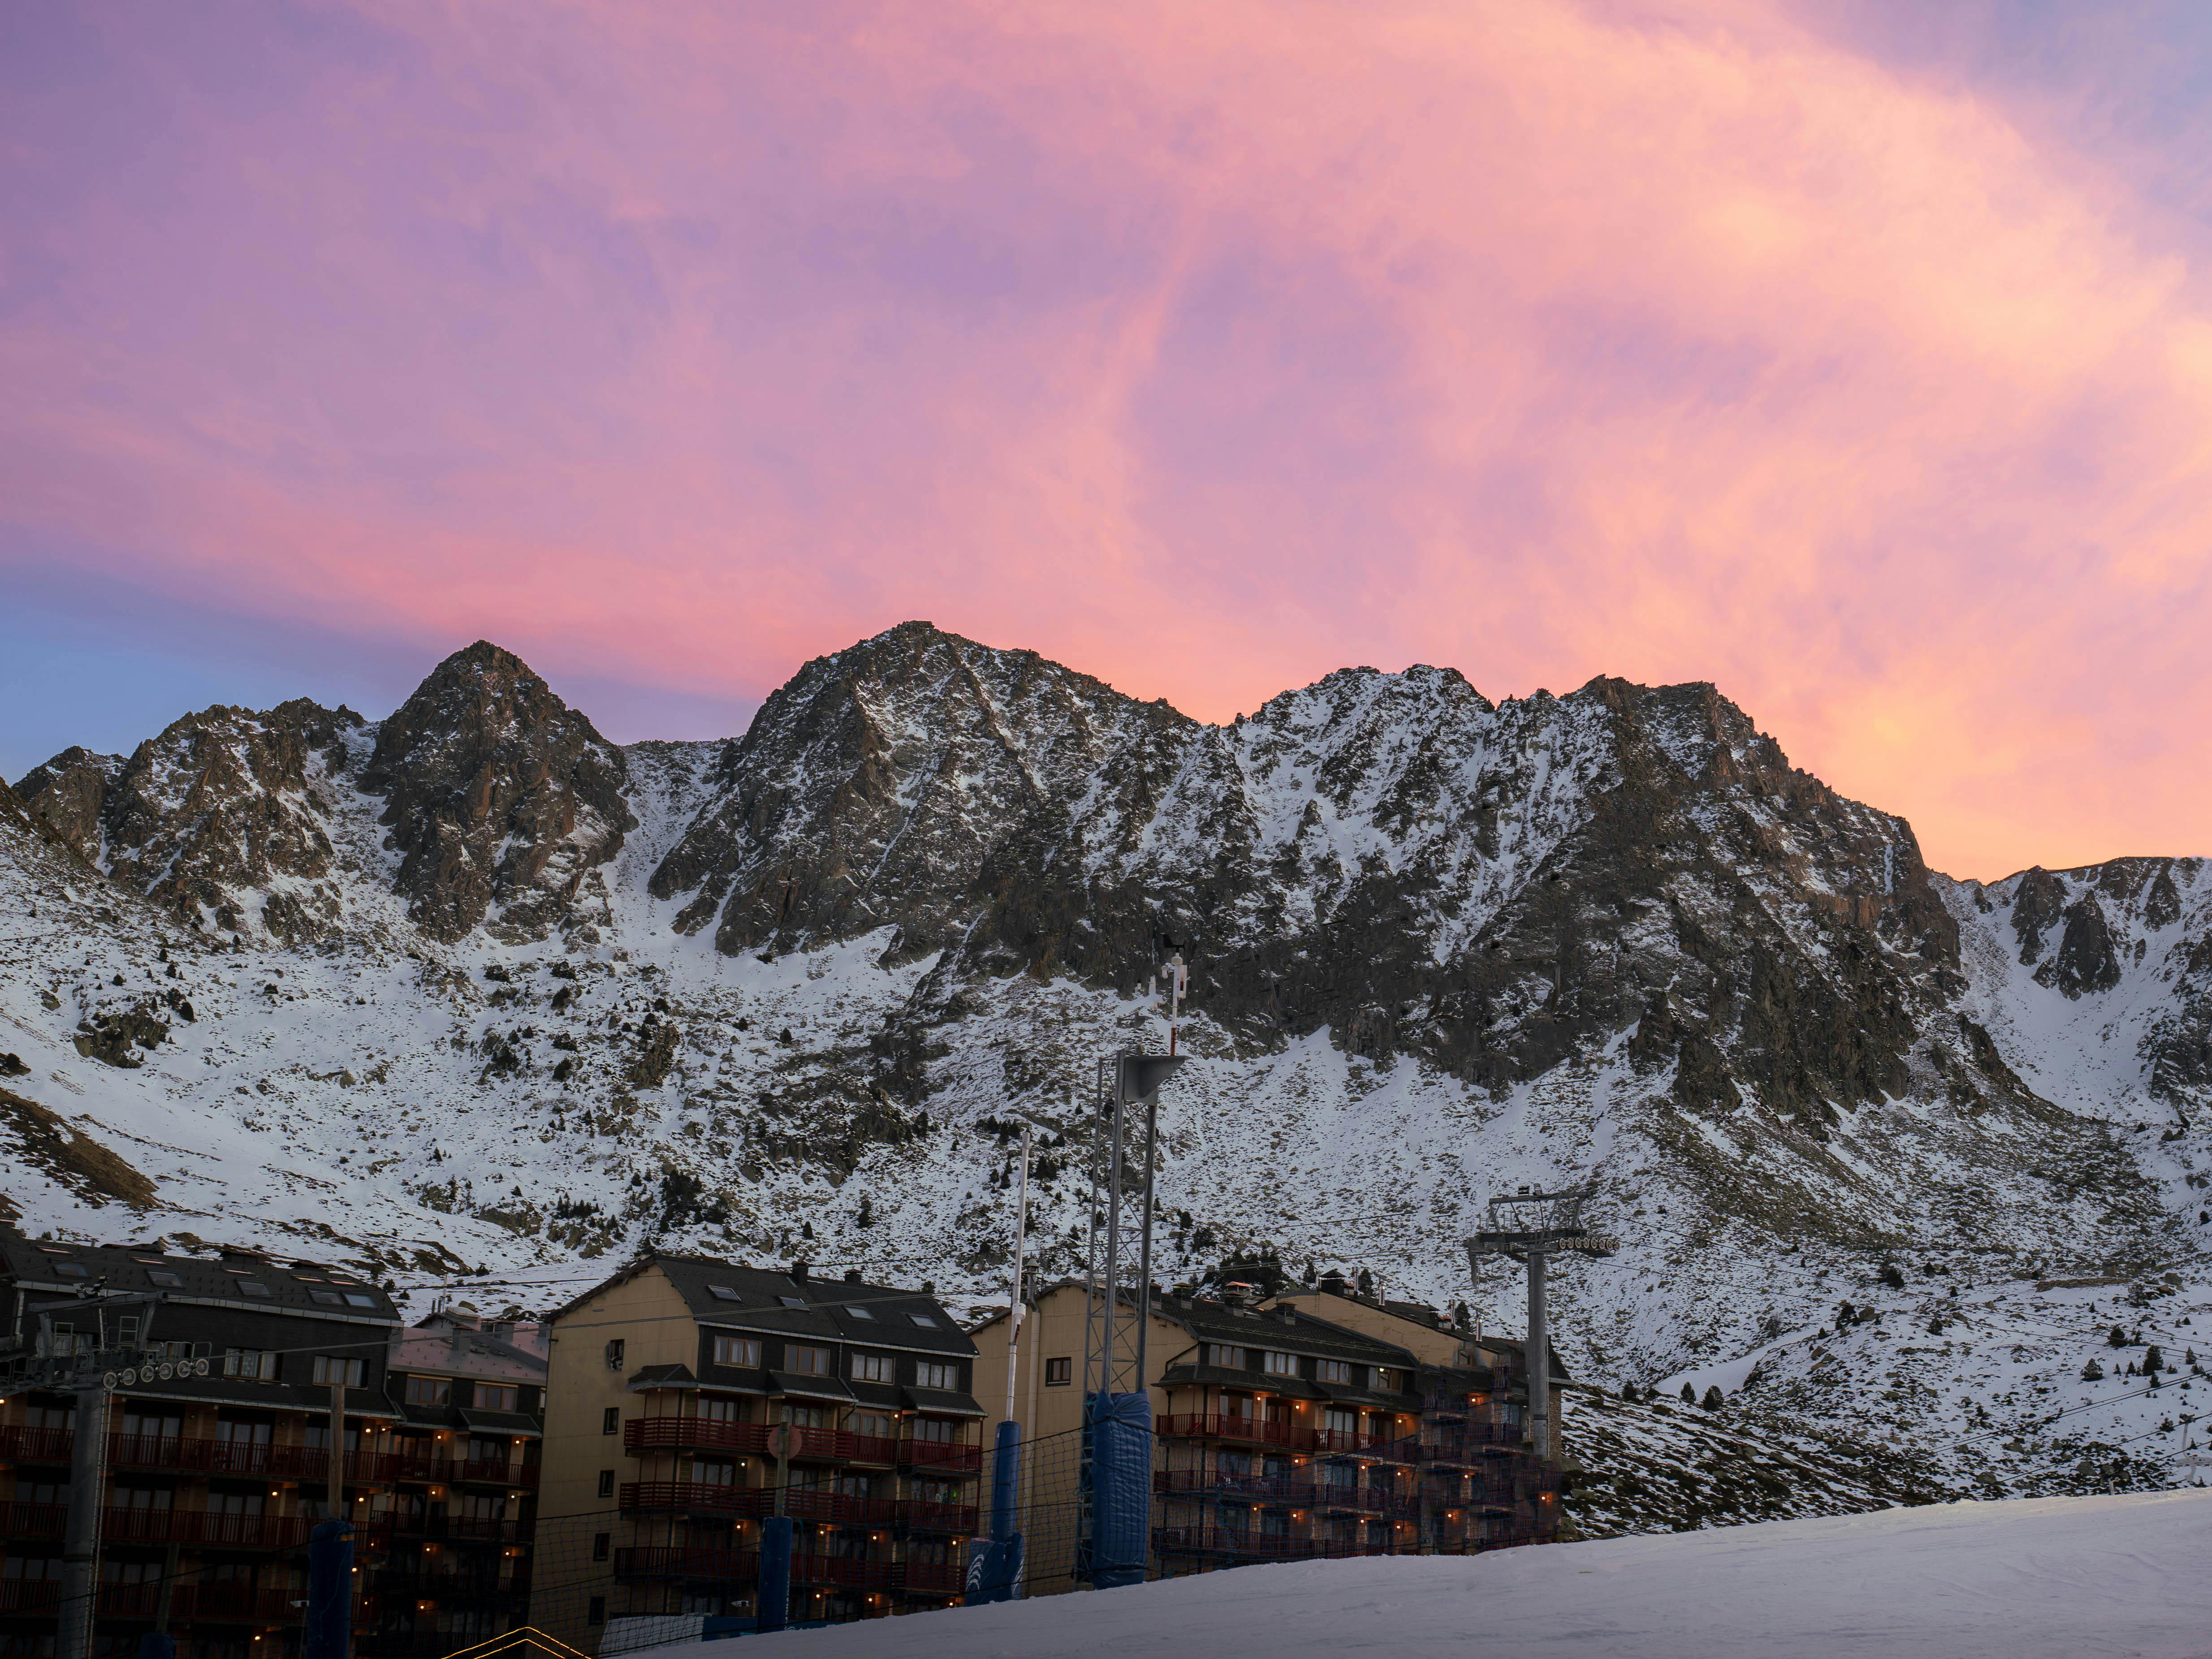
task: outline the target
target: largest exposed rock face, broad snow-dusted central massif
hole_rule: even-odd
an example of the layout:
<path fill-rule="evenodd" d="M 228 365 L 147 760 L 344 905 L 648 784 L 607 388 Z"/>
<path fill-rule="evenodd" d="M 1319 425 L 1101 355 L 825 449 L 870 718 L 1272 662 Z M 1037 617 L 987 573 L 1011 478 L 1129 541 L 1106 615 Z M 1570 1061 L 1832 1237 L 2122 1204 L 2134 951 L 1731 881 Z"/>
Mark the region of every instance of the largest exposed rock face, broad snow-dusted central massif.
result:
<path fill-rule="evenodd" d="M 1128 984 L 1179 949 L 1256 1040 L 1327 1026 L 1491 1088 L 1641 1020 L 1686 1104 L 1820 1135 L 1905 1086 L 1958 982 L 1911 830 L 1710 686 L 1500 708 L 1360 668 L 1208 728 L 907 624 L 807 664 L 714 783 L 653 891 L 719 911 L 726 951 L 896 925 L 905 953 Z"/>

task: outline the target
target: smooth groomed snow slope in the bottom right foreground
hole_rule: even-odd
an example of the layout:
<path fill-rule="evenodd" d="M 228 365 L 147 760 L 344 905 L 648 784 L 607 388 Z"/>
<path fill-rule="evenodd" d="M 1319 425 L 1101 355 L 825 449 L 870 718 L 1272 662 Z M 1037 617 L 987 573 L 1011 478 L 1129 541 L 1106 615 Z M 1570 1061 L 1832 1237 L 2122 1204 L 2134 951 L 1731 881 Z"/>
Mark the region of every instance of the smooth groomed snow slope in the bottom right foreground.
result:
<path fill-rule="evenodd" d="M 2212 1491 L 2026 1498 L 1478 1557 L 1245 1566 L 653 1657 L 2201 1659 L 2208 1562 Z"/>

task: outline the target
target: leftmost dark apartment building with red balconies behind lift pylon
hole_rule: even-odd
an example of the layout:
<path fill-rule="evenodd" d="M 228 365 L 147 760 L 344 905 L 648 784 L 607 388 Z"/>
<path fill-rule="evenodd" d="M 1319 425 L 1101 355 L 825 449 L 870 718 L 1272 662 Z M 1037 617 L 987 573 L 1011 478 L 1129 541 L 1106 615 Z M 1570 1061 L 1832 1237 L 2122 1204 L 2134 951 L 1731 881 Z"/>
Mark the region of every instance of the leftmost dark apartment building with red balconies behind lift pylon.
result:
<path fill-rule="evenodd" d="M 106 1310 L 91 1292 L 157 1292 Z M 343 1387 L 343 1500 L 374 1575 L 389 1537 L 369 1517 L 392 1491 L 398 1411 L 385 1356 L 400 1316 L 358 1274 L 230 1252 L 91 1248 L 0 1239 L 0 1365 L 27 1360 L 51 1316 L 80 1352 L 142 1345 L 208 1360 L 208 1376 L 148 1378 L 108 1402 L 100 1506 L 95 1652 L 137 1652 L 166 1626 L 184 1659 L 279 1659 L 299 1650 L 305 1542 L 323 1520 L 332 1383 Z M 100 1321 L 111 1321 L 102 1334 Z M 102 1340 L 104 1336 L 104 1340 Z M 53 1652 L 62 1528 L 75 1453 L 73 1394 L 0 1400 L 0 1655 Z M 374 1615 L 374 1597 L 363 1613 Z"/>

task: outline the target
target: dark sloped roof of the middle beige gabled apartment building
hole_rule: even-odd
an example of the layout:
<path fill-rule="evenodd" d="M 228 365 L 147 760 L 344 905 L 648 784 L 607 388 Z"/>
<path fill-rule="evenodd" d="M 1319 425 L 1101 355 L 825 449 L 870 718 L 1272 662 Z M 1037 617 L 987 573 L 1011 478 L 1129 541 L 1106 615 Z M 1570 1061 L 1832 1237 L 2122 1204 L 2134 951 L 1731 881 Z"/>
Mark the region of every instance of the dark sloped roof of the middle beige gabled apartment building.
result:
<path fill-rule="evenodd" d="M 920 1354 L 969 1358 L 975 1343 L 945 1305 L 920 1290 L 869 1285 L 847 1279 L 794 1279 L 781 1267 L 748 1267 L 712 1256 L 646 1256 L 602 1285 L 584 1292 L 553 1318 L 588 1303 L 604 1290 L 659 1267 L 701 1325 L 761 1332 L 763 1336 L 816 1336 L 827 1343 L 902 1347 Z M 734 1292 L 717 1296 L 714 1285 Z M 785 1305 L 799 1303 L 796 1307 Z M 918 1321 L 929 1321 L 927 1325 Z"/>

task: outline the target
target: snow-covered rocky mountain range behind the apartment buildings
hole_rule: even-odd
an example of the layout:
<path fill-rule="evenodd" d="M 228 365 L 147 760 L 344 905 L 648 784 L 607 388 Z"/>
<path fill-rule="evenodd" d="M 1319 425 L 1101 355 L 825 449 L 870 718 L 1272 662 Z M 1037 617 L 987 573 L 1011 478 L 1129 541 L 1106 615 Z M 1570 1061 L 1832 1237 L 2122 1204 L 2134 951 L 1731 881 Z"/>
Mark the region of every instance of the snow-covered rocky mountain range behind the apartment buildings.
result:
<path fill-rule="evenodd" d="M 212 708 L 58 754 L 0 796 L 0 918 L 33 1232 L 520 1301 L 661 1239 L 989 1298 L 1009 1124 L 1053 1130 L 1066 1270 L 1060 1137 L 1099 1055 L 1161 1037 L 1170 951 L 1168 1279 L 1270 1248 L 1469 1298 L 1480 1203 L 1588 1179 L 1624 1248 L 1562 1279 L 1579 1376 L 1736 1363 L 1750 1411 L 1840 1352 L 1840 1298 L 1900 1329 L 1960 1285 L 2011 1310 L 1984 1343 L 2044 1332 L 2017 1438 L 2088 1356 L 2024 1285 L 2181 1321 L 2212 1232 L 2203 860 L 1949 880 L 1710 686 L 1358 668 L 1206 726 L 905 624 L 743 739 L 617 748 L 478 644 L 378 723 Z M 1929 1433 L 1978 1425 L 1986 1383 L 1936 1369 Z M 1832 1394 L 1790 1409 L 1887 1416 Z"/>

